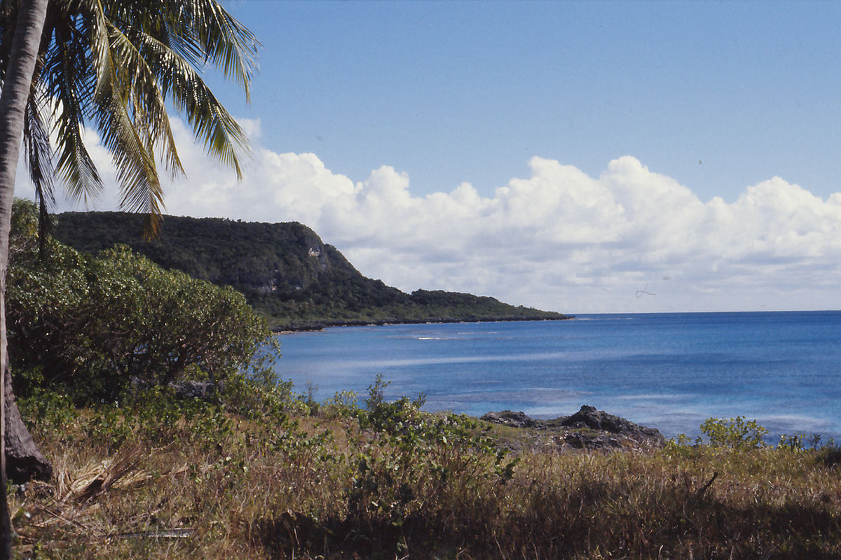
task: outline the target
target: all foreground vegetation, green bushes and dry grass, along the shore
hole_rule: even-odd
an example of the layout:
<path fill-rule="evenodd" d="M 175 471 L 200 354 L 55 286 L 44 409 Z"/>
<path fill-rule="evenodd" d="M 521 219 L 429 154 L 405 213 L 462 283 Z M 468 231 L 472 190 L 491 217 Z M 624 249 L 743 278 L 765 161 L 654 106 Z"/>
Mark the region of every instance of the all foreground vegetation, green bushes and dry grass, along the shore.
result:
<path fill-rule="evenodd" d="M 834 442 L 770 446 L 741 416 L 664 441 L 592 407 L 434 413 L 377 372 L 316 401 L 240 292 L 125 246 L 42 256 L 37 216 L 13 213 L 9 355 L 51 475 L 12 477 L 17 557 L 841 557 Z"/>

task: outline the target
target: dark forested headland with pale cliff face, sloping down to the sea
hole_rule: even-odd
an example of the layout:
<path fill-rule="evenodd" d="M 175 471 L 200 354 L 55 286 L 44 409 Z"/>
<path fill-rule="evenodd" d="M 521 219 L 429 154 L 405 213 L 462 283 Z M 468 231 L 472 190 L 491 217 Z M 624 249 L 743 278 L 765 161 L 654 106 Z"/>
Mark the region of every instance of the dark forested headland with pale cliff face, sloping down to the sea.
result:
<path fill-rule="evenodd" d="M 64 212 L 57 216 L 55 236 L 88 253 L 124 243 L 167 269 L 232 285 L 278 330 L 569 318 L 492 297 L 440 290 L 406 294 L 362 276 L 335 247 L 298 222 L 167 216 L 161 237 L 144 241 L 144 220 L 125 212 Z"/>

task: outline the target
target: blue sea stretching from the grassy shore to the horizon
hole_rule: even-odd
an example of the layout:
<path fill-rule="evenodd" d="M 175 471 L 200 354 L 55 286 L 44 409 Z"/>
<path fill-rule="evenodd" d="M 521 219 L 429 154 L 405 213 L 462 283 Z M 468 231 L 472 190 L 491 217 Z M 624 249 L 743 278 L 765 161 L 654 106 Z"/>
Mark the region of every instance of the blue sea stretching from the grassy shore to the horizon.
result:
<path fill-rule="evenodd" d="M 389 398 L 426 409 L 532 416 L 596 406 L 667 437 L 706 418 L 841 441 L 841 311 L 584 315 L 572 321 L 337 327 L 281 336 L 278 372 L 325 400 Z"/>

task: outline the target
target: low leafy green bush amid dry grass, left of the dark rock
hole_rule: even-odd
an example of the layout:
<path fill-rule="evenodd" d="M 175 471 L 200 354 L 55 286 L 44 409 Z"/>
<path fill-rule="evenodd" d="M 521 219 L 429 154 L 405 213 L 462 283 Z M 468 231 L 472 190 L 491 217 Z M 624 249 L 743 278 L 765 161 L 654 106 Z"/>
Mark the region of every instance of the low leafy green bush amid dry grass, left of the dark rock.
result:
<path fill-rule="evenodd" d="M 359 426 L 371 437 L 361 440 L 352 458 L 353 485 L 347 491 L 352 524 L 389 531 L 442 506 L 452 492 L 471 493 L 488 480 L 507 484 L 513 478 L 519 459 L 506 459 L 488 427 L 468 416 L 421 411 L 423 394 L 389 402 L 383 394 L 388 385 L 377 375 L 366 409 L 355 409 Z"/>

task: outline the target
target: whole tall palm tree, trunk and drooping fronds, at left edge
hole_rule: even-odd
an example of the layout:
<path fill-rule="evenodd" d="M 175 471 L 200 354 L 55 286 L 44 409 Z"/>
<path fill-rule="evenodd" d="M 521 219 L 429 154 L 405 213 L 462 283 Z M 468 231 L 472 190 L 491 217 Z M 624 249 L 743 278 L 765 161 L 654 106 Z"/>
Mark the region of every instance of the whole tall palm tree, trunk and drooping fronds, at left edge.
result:
<path fill-rule="evenodd" d="M 187 118 L 209 153 L 233 165 L 239 175 L 239 154 L 247 147 L 245 133 L 199 71 L 206 65 L 219 68 L 243 87 L 247 98 L 256 52 L 251 32 L 216 0 L 3 0 L 0 4 L 0 398 L 6 397 L 0 411 L 7 414 L 0 430 L 21 433 L 22 429 L 24 439 L 29 437 L 19 415 L 19 425 L 10 423 L 17 407 L 9 383 L 4 311 L 21 139 L 45 213 L 54 175 L 77 200 L 101 190 L 102 181 L 82 142 L 84 127 L 93 126 L 112 154 L 122 207 L 146 212 L 147 233 L 154 235 L 163 202 L 156 152 L 170 173 L 183 172 L 167 102 Z M 50 131 L 56 137 L 55 150 Z M 8 442 L 8 437 L 0 440 Z M 34 450 L 34 444 L 31 447 Z M 5 457 L 3 453 L 0 461 Z M 4 464 L 2 471 L 0 498 L 6 509 Z M 8 538 L 2 512 L 0 531 L 0 539 Z M 0 545 L 0 559 L 8 557 L 8 542 Z"/>

